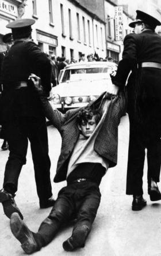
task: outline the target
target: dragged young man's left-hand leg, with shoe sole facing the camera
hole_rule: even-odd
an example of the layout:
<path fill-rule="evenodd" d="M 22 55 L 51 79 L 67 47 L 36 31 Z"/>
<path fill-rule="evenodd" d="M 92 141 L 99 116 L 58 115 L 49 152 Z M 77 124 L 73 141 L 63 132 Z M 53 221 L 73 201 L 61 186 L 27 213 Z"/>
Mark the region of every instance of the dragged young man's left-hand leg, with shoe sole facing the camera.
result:
<path fill-rule="evenodd" d="M 46 246 L 51 242 L 57 231 L 59 231 L 60 225 L 70 218 L 74 209 L 74 204 L 72 204 L 72 200 L 70 199 L 70 192 L 68 187 L 60 190 L 51 213 L 41 223 L 37 233 L 30 231 L 17 213 L 11 215 L 11 231 L 22 244 L 21 247 L 25 253 L 31 254 L 34 251 L 39 251 L 41 247 Z"/>

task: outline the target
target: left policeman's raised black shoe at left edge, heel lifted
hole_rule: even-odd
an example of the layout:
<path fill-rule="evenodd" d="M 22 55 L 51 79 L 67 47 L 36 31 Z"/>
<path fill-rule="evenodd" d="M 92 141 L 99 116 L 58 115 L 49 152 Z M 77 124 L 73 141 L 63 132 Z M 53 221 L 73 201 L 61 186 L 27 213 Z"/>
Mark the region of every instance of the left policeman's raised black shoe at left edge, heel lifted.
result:
<path fill-rule="evenodd" d="M 13 195 L 7 193 L 4 189 L 0 190 L 0 202 L 3 205 L 3 211 L 5 215 L 9 219 L 12 213 L 17 212 L 23 220 L 23 216 L 20 212 L 20 209 L 18 209 L 16 202 L 14 201 Z"/>

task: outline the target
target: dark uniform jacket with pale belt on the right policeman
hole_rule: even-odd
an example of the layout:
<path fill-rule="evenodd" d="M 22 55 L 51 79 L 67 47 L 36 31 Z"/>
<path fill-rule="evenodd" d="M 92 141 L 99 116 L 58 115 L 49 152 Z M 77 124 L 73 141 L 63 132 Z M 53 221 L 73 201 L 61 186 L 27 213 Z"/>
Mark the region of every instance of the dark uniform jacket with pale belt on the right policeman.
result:
<path fill-rule="evenodd" d="M 112 78 L 115 85 L 125 86 L 132 71 L 127 84 L 128 112 L 136 123 L 146 126 L 160 115 L 161 69 L 141 68 L 143 62 L 161 63 L 161 37 L 151 30 L 125 36 L 122 60 L 118 63 L 116 76 Z"/>

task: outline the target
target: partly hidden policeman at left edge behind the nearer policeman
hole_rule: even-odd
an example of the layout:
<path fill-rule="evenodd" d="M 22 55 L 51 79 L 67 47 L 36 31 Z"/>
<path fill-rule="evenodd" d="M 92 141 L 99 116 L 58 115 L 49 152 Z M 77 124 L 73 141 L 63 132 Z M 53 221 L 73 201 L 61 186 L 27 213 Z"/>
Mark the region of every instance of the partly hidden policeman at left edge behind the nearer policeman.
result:
<path fill-rule="evenodd" d="M 3 43 L 6 44 L 6 48 L 7 48 L 7 51 L 3 51 L 0 53 L 0 71 L 1 71 L 1 66 L 2 66 L 2 62 L 3 62 L 3 59 L 6 55 L 6 53 L 9 51 L 10 47 L 13 45 L 13 36 L 12 36 L 12 33 L 7 33 L 6 35 L 4 35 L 2 37 L 2 41 Z M 0 80 L 1 80 L 1 76 L 0 76 Z M 3 85 L 1 84 L 0 85 L 0 94 L 2 93 L 2 90 L 3 90 Z M 1 131 L 1 138 L 3 138 L 3 144 L 1 146 L 1 149 L 2 150 L 7 150 L 8 149 L 8 144 L 7 144 L 7 140 L 5 138 L 5 131 L 2 127 L 2 131 Z"/>

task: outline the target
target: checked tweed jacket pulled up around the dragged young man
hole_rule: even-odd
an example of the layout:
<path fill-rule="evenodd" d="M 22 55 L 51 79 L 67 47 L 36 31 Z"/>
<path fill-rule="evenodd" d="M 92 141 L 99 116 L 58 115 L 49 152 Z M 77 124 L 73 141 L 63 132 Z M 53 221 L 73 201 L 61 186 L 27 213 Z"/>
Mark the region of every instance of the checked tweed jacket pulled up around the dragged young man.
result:
<path fill-rule="evenodd" d="M 114 167 L 117 164 L 118 125 L 125 111 L 126 100 L 124 92 L 120 91 L 117 96 L 112 96 L 104 92 L 97 100 L 90 103 L 89 106 L 98 108 L 103 97 L 105 96 L 106 98 L 106 95 L 108 95 L 106 100 L 110 100 L 110 105 L 105 116 L 105 121 L 94 142 L 94 150 L 100 156 L 108 159 L 109 167 Z M 59 130 L 62 136 L 62 148 L 54 178 L 54 182 L 62 182 L 66 180 L 71 153 L 79 137 L 80 131 L 76 122 L 76 115 L 78 114 L 79 108 L 69 110 L 66 114 L 62 114 L 56 109 L 53 110 L 44 97 L 41 97 L 41 101 L 43 102 L 45 115 Z"/>

